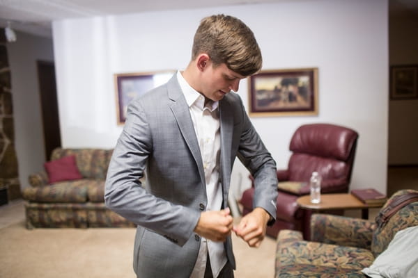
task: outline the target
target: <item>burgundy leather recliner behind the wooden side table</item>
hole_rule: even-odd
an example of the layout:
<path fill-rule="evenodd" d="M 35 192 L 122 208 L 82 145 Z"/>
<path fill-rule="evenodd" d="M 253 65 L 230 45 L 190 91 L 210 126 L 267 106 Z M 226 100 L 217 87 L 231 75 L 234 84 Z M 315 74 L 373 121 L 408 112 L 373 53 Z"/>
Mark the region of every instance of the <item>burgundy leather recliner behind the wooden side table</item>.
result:
<path fill-rule="evenodd" d="M 277 221 L 267 229 L 268 236 L 277 237 L 281 229 L 302 231 L 309 239 L 309 211 L 299 208 L 297 197 L 309 194 L 312 172 L 322 177 L 321 194 L 348 193 L 355 158 L 358 133 L 353 129 L 335 124 L 305 124 L 300 126 L 291 139 L 289 149 L 293 154 L 287 170 L 277 170 L 281 181 L 307 182 L 301 188 L 278 189 Z M 254 187 L 242 194 L 242 214 L 251 212 Z"/>

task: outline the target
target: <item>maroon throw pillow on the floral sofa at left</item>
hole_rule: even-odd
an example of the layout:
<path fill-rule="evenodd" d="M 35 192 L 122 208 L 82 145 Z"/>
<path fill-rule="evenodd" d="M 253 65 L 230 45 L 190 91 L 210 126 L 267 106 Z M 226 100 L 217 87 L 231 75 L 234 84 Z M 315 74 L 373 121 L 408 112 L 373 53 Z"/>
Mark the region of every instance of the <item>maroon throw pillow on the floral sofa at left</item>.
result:
<path fill-rule="evenodd" d="M 75 156 L 63 156 L 54 161 L 45 162 L 44 167 L 48 173 L 49 183 L 83 178 L 75 162 Z"/>

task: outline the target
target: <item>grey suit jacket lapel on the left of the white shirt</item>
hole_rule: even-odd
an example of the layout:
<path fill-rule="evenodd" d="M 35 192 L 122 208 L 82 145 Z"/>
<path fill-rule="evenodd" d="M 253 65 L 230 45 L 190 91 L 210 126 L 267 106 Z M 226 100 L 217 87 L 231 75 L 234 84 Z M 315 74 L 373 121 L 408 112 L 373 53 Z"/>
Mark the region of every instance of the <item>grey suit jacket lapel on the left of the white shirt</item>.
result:
<path fill-rule="evenodd" d="M 173 104 L 171 105 L 171 111 L 176 118 L 180 133 L 182 134 L 187 147 L 189 147 L 194 161 L 196 161 L 197 167 L 199 169 L 199 175 L 201 177 L 202 184 L 204 185 L 205 172 L 203 171 L 203 162 L 201 158 L 199 143 L 197 142 L 192 117 L 189 113 L 189 106 L 187 105 L 183 92 L 180 89 L 180 85 L 178 85 L 176 74 L 174 74 L 174 76 L 169 80 L 167 86 L 169 99 L 173 101 Z"/>

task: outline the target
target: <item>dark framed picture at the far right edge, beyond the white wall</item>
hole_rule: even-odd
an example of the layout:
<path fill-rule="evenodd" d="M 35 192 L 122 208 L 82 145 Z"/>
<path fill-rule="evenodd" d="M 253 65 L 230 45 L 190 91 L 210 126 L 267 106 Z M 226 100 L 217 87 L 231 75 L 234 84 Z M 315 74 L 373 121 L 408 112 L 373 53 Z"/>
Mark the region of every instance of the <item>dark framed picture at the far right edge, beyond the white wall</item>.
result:
<path fill-rule="evenodd" d="M 418 98 L 418 65 L 394 65 L 390 67 L 390 98 Z"/>

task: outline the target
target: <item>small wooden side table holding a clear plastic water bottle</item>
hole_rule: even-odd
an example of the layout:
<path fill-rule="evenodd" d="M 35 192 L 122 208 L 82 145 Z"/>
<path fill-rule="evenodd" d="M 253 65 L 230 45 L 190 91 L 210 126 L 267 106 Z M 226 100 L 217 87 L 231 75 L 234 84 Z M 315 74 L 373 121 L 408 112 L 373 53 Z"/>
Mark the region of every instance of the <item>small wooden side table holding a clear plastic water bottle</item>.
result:
<path fill-rule="evenodd" d="M 369 208 L 379 208 L 382 206 L 382 204 L 364 204 L 350 193 L 321 194 L 319 204 L 312 204 L 309 195 L 297 198 L 296 202 L 301 208 L 311 211 L 361 209 L 363 219 L 369 218 Z"/>

